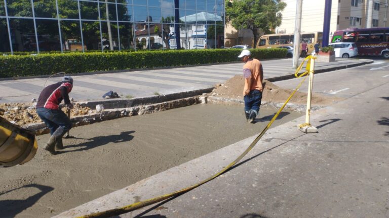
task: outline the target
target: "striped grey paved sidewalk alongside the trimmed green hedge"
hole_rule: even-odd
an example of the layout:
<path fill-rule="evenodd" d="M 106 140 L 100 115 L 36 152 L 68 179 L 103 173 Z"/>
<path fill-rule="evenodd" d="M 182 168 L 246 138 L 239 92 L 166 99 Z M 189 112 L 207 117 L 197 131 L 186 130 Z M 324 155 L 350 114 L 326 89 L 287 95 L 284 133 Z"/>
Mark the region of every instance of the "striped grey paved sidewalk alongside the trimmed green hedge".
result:
<path fill-rule="evenodd" d="M 302 59 L 299 60 L 300 62 Z M 294 75 L 292 59 L 263 60 L 265 79 L 277 81 Z M 373 63 L 364 59 L 338 59 L 332 63 L 316 63 L 316 72 L 355 67 Z M 70 93 L 75 101 L 103 100 L 104 93 L 112 90 L 121 95 L 119 99 L 140 98 L 188 92 L 224 83 L 242 74 L 243 63 L 218 64 L 196 67 L 166 68 L 157 70 L 133 70 L 119 73 L 72 75 L 74 88 Z M 30 102 L 39 96 L 46 85 L 59 78 L 31 78 L 0 80 L 0 103 Z"/>

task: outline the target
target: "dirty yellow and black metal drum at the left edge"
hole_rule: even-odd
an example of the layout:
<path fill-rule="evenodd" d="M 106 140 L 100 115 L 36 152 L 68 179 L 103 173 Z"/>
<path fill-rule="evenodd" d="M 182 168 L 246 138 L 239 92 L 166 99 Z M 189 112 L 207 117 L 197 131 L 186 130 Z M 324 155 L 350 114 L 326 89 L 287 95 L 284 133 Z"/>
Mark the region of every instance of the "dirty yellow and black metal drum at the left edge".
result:
<path fill-rule="evenodd" d="M 22 165 L 36 154 L 35 135 L 0 117 L 0 167 Z"/>

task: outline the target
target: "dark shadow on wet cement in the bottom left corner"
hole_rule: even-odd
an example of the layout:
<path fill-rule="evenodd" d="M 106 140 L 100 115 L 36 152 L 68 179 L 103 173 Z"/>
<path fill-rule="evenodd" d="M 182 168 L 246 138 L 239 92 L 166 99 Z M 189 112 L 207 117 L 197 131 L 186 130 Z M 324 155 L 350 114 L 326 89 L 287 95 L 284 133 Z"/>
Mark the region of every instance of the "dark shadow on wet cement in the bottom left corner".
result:
<path fill-rule="evenodd" d="M 37 188 L 40 190 L 39 193 L 36 193 L 24 200 L 0 200 L 0 216 L 1 217 L 15 217 L 17 214 L 22 212 L 23 210 L 34 205 L 41 197 L 45 194 L 54 190 L 54 188 L 50 186 L 38 185 L 38 184 L 30 184 L 25 185 L 16 189 L 12 189 L 6 191 L 4 193 L 0 193 L 0 195 L 7 194 L 12 191 L 16 191 L 21 188 Z"/>

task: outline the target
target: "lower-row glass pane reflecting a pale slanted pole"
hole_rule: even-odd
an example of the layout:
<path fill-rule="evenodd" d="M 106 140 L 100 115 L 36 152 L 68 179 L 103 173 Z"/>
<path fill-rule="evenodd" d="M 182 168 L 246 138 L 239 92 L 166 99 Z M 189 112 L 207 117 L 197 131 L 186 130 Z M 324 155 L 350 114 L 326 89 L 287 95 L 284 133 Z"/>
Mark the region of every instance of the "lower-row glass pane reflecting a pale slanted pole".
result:
<path fill-rule="evenodd" d="M 109 33 L 108 30 L 111 30 Z M 118 24 L 116 22 L 101 22 L 101 33 L 103 35 L 103 49 L 119 50 L 119 40 L 118 40 Z"/>

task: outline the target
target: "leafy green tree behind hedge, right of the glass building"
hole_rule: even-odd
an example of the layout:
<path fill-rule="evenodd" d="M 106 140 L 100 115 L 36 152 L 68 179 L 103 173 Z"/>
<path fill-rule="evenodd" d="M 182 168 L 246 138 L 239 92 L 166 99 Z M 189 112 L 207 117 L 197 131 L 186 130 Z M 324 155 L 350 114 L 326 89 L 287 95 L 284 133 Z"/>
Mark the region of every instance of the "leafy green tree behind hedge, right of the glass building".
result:
<path fill-rule="evenodd" d="M 270 29 L 280 26 L 285 7 L 281 0 L 225 0 L 225 15 L 234 28 L 250 29 L 256 46 L 258 30 L 268 34 Z"/>

